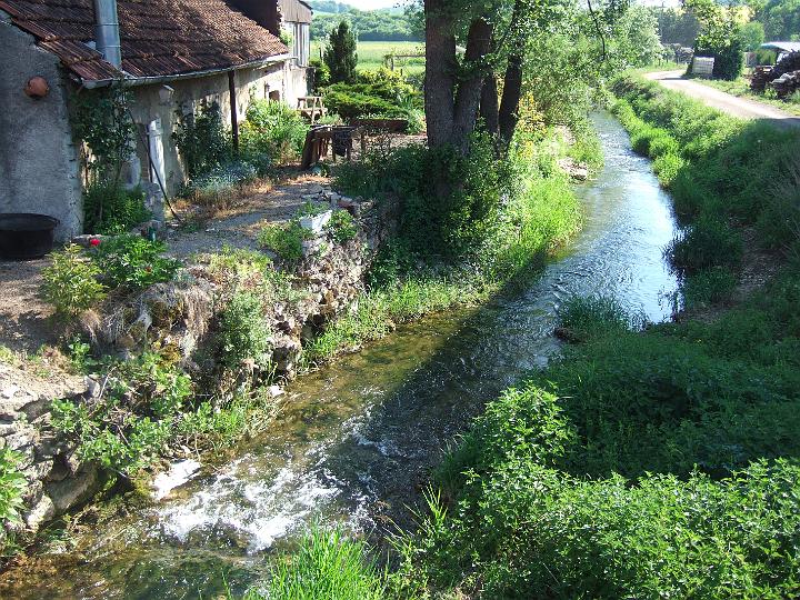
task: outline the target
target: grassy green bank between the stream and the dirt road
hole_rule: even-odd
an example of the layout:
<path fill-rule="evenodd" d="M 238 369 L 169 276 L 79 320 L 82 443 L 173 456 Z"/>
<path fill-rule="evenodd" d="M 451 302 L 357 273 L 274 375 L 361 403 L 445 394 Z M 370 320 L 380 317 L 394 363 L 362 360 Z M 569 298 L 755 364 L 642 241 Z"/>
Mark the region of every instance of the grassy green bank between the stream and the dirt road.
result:
<path fill-rule="evenodd" d="M 728 117 L 637 76 L 619 77 L 611 89 L 633 149 L 653 159 L 686 224 L 666 250 L 683 277 L 686 308 L 730 298 L 749 250 L 744 229 L 761 250 L 798 256 L 797 131 Z"/>

